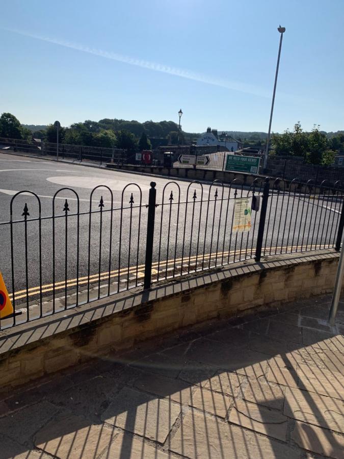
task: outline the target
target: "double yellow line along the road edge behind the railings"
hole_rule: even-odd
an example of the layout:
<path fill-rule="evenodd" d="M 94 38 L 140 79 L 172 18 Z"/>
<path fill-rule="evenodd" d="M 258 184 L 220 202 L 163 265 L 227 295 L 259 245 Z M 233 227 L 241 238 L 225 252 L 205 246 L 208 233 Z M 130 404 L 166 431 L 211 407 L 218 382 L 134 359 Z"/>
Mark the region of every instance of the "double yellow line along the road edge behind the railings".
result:
<path fill-rule="evenodd" d="M 303 249 L 307 249 L 308 247 L 313 247 L 314 250 L 316 250 L 316 248 L 321 248 L 320 246 L 315 246 L 315 245 L 308 245 L 308 246 L 301 246 L 301 245 L 298 245 L 298 246 L 287 246 L 287 247 L 283 247 L 283 246 L 279 246 L 279 247 L 271 247 L 271 250 L 280 250 L 280 249 L 285 249 L 285 250 L 292 250 L 292 249 L 298 249 L 298 248 L 303 248 Z M 157 270 L 156 268 L 162 268 L 162 267 L 165 267 L 165 269 L 168 267 L 168 265 L 177 265 L 178 263 L 180 262 L 183 262 L 183 263 L 188 263 L 188 264 L 191 264 L 192 262 L 195 262 L 197 260 L 197 262 L 202 262 L 204 260 L 209 260 L 211 258 L 222 258 L 222 257 L 227 257 L 228 255 L 231 256 L 231 255 L 237 255 L 238 257 L 241 256 L 243 253 L 246 253 L 246 252 L 249 252 L 251 249 L 242 249 L 242 250 L 232 250 L 232 251 L 225 251 L 225 252 L 213 252 L 213 253 L 207 253 L 205 254 L 204 256 L 202 255 L 194 255 L 193 257 L 183 257 L 183 258 L 178 258 L 178 259 L 171 259 L 171 260 L 167 260 L 167 261 L 162 261 L 162 262 L 155 262 L 155 263 L 152 263 L 152 274 L 157 274 Z M 255 250 L 255 248 L 253 248 L 252 250 Z M 239 260 L 238 260 L 239 261 Z M 125 274 L 125 275 L 128 275 L 128 274 L 138 274 L 138 278 L 140 277 L 143 277 L 144 276 L 144 273 L 141 272 L 140 270 L 142 270 L 143 268 L 145 267 L 145 265 L 139 265 L 139 266 L 132 266 L 130 268 L 122 268 L 120 270 L 114 270 L 114 271 L 110 271 L 110 276 L 109 276 L 109 271 L 105 271 L 105 272 L 102 272 L 100 273 L 100 276 L 99 274 L 92 274 L 90 275 L 90 277 L 88 276 L 83 276 L 83 277 L 79 277 L 78 279 L 77 278 L 74 278 L 74 279 L 67 279 L 67 283 L 65 281 L 59 281 L 59 282 L 56 282 L 55 285 L 54 284 L 45 284 L 45 285 L 42 285 L 42 293 L 46 293 L 46 292 L 51 292 L 53 290 L 63 290 L 65 288 L 70 288 L 70 287 L 75 287 L 76 285 L 78 286 L 81 286 L 81 285 L 85 285 L 85 284 L 88 284 L 89 282 L 92 283 L 92 282 L 99 282 L 99 279 L 100 281 L 107 281 L 109 278 L 113 278 L 113 277 L 120 277 L 121 275 Z M 176 268 L 177 269 L 177 268 Z M 162 268 L 162 270 L 164 270 L 164 268 Z M 119 275 L 118 275 L 119 273 Z M 28 289 L 28 296 L 34 296 L 34 295 L 38 295 L 40 293 L 40 290 L 41 287 L 40 286 L 37 286 L 37 287 L 31 287 Z M 25 298 L 27 296 L 27 289 L 23 289 L 23 290 L 19 290 L 17 292 L 14 293 L 14 298 L 15 300 L 18 300 L 18 299 L 21 299 L 21 298 Z M 12 293 L 9 295 L 9 297 L 13 298 L 13 295 Z"/>

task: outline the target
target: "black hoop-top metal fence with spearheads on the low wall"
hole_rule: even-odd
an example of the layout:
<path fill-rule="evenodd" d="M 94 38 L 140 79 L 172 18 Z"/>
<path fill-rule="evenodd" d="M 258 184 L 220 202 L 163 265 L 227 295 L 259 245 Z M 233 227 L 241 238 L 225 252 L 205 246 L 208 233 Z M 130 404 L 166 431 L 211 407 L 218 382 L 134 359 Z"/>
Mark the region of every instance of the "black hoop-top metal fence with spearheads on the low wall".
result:
<path fill-rule="evenodd" d="M 0 223 L 0 266 L 15 309 L 0 327 L 237 261 L 339 250 L 339 185 L 256 179 L 244 188 L 235 179 L 226 186 L 196 181 L 185 190 L 169 182 L 157 197 L 152 182 L 148 193 L 137 184 L 120 195 L 97 186 L 88 202 L 61 188 L 48 206 L 21 191 L 11 199 L 10 221 Z M 252 203 L 248 231 L 234 225 L 241 198 Z"/>

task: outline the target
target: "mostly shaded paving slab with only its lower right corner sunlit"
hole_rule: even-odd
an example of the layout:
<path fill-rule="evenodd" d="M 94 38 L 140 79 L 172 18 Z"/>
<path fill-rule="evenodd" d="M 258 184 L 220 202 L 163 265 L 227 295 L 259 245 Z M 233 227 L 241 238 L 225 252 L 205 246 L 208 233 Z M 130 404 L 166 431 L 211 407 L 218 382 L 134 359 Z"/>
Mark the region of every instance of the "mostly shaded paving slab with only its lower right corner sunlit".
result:
<path fill-rule="evenodd" d="M 153 373 L 142 373 L 134 387 L 180 404 L 189 402 L 193 390 L 188 382 Z"/>

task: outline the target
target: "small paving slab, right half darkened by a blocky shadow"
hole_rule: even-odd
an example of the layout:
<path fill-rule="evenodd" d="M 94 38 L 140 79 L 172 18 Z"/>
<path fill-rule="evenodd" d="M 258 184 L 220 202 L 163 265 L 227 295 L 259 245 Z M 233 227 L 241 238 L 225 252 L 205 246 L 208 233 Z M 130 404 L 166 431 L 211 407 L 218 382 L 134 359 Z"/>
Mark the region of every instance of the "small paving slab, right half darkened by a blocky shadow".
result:
<path fill-rule="evenodd" d="M 288 419 L 282 413 L 245 400 L 235 400 L 229 422 L 285 442 Z"/>

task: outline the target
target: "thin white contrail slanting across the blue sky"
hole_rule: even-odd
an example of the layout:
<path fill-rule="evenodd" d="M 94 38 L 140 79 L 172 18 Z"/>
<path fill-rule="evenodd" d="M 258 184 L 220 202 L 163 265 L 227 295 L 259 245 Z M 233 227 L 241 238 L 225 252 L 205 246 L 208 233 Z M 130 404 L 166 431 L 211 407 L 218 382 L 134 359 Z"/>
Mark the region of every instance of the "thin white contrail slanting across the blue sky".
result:
<path fill-rule="evenodd" d="M 213 85 L 213 86 L 220 86 L 222 88 L 231 89 L 234 91 L 241 91 L 241 92 L 245 92 L 247 94 L 253 94 L 259 97 L 269 97 L 269 98 L 271 97 L 270 92 L 264 89 L 257 88 L 255 86 L 251 86 L 247 84 L 243 84 L 240 82 L 218 79 L 215 77 L 204 75 L 202 73 L 196 73 L 188 69 L 171 67 L 169 65 L 158 64 L 156 62 L 146 61 L 143 59 L 131 58 L 128 56 L 123 56 L 118 53 L 104 51 L 103 49 L 99 49 L 99 48 L 93 48 L 93 47 L 91 48 L 91 47 L 88 47 L 88 46 L 85 46 L 79 43 L 73 43 L 73 42 L 66 41 L 66 40 L 50 38 L 50 37 L 33 34 L 29 32 L 23 32 L 23 31 L 19 31 L 15 29 L 8 29 L 8 28 L 1 28 L 1 29 L 6 30 L 8 32 L 16 33 L 19 35 L 23 35 L 25 37 L 35 38 L 37 40 L 46 41 L 48 43 L 53 43 L 59 46 L 64 46 L 66 48 L 75 49 L 83 53 L 100 56 L 105 59 L 111 59 L 113 61 L 123 62 L 125 64 L 135 65 L 141 68 L 147 68 L 149 70 L 153 70 L 156 72 L 167 73 L 169 75 L 175 75 L 176 77 L 186 78 L 188 80 L 198 81 L 198 82 L 206 83 L 206 84 Z"/>

